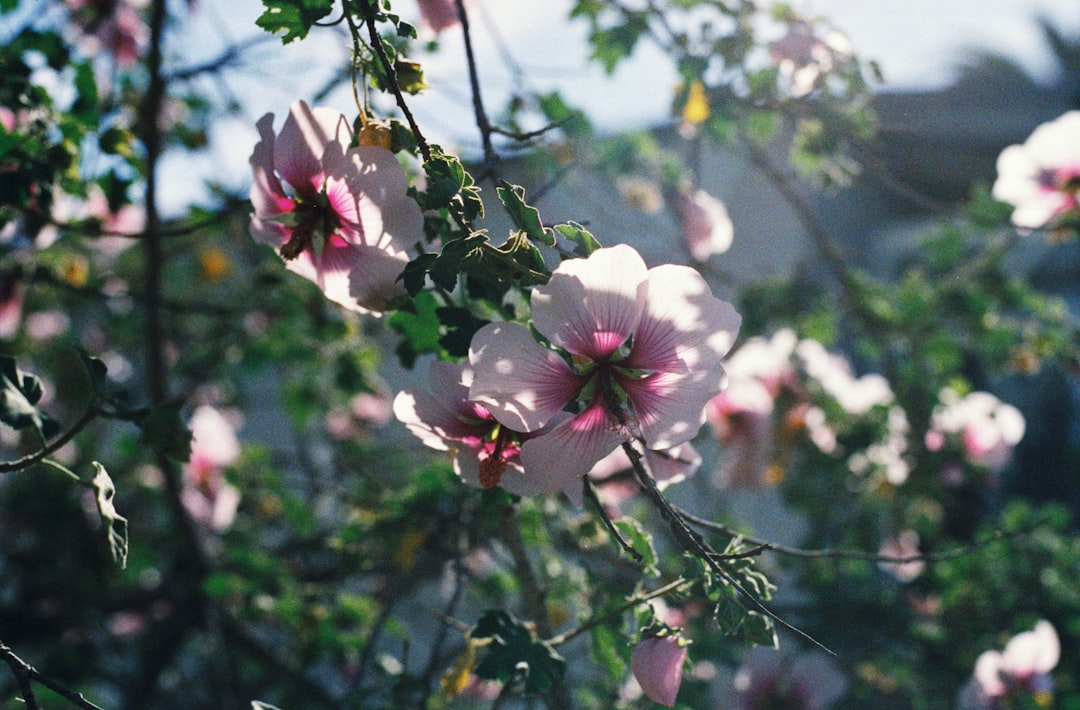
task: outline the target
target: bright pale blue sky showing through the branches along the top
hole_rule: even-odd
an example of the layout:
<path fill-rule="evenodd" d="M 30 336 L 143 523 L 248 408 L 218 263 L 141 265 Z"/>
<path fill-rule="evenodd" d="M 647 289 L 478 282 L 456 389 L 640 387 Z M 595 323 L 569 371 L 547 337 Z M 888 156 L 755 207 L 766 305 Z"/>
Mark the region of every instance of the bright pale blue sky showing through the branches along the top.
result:
<path fill-rule="evenodd" d="M 600 130 L 656 125 L 670 118 L 677 78 L 651 45 L 640 44 L 615 76 L 606 77 L 588 62 L 583 23 L 566 19 L 572 0 L 474 2 L 473 41 L 490 112 L 498 112 L 524 77 L 528 89 L 558 89 Z M 827 17 L 848 35 L 856 52 L 876 59 L 885 71 L 887 91 L 944 85 L 974 50 L 1013 57 L 1037 77 L 1049 79 L 1051 61 L 1036 18 L 1048 18 L 1066 35 L 1080 34 L 1080 2 L 1068 0 L 795 0 L 795 4 Z M 204 1 L 198 8 L 178 42 L 192 63 L 215 56 L 230 41 L 265 35 L 254 24 L 261 12 L 259 0 Z M 414 0 L 396 0 L 394 9 L 405 19 L 417 17 Z M 247 157 L 257 140 L 255 121 L 274 112 L 280 126 L 292 102 L 312 96 L 342 66 L 346 49 L 340 36 L 328 30 L 286 46 L 274 38 L 259 43 L 251 51 L 248 65 L 225 82 L 244 107 L 242 115 L 215 124 L 206 156 L 193 162 L 190 157 L 170 157 L 166 170 L 213 175 L 228 187 L 246 189 Z M 505 53 L 521 67 L 521 75 L 507 68 Z M 469 153 L 478 139 L 463 57 L 460 34 L 448 30 L 437 53 L 417 57 L 432 90 L 409 103 L 426 134 Z M 346 113 L 354 111 L 348 91 L 333 93 L 323 103 Z M 175 213 L 200 195 L 198 180 L 183 180 L 164 196 L 163 207 Z"/>

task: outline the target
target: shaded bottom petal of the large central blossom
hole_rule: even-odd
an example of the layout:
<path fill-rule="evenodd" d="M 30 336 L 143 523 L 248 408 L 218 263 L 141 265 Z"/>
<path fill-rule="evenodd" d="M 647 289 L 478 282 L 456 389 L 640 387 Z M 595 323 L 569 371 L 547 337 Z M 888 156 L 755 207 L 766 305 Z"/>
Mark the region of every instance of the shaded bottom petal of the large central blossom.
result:
<path fill-rule="evenodd" d="M 572 419 L 522 444 L 525 474 L 543 493 L 581 486 L 581 478 L 626 440 L 603 403 L 594 401 Z"/>

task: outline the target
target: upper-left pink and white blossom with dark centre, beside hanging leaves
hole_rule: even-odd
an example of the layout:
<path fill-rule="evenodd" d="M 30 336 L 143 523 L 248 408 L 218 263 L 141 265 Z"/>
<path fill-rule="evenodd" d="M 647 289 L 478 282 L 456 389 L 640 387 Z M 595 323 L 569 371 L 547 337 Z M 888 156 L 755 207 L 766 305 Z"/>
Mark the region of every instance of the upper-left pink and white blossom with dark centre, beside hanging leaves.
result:
<path fill-rule="evenodd" d="M 350 147 L 349 121 L 333 109 L 299 102 L 276 136 L 273 113 L 257 126 L 253 237 L 279 250 L 286 268 L 330 300 L 360 312 L 383 310 L 405 293 L 396 279 L 423 228 L 404 169 L 386 148 Z"/>

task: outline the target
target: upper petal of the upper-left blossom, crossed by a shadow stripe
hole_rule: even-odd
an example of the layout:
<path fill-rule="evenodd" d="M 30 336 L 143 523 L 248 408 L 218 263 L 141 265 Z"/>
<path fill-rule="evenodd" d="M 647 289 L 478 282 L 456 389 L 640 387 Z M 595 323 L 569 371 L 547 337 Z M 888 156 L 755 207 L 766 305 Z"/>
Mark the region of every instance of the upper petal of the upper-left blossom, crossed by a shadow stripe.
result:
<path fill-rule="evenodd" d="M 343 152 L 352 142 L 352 126 L 332 108 L 311 108 L 305 102 L 289 107 L 278 134 L 274 168 L 298 193 L 310 197 L 322 189 L 323 157 L 330 144 Z"/>

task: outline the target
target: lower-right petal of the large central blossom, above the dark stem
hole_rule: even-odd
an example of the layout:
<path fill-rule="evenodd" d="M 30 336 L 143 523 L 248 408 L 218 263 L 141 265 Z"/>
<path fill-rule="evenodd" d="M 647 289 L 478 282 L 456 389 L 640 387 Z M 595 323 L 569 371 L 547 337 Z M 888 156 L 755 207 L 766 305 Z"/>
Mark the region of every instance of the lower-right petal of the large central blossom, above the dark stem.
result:
<path fill-rule="evenodd" d="M 724 388 L 724 369 L 686 374 L 653 373 L 620 378 L 649 448 L 671 448 L 693 439 L 705 423 L 705 404 Z"/>

